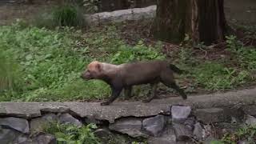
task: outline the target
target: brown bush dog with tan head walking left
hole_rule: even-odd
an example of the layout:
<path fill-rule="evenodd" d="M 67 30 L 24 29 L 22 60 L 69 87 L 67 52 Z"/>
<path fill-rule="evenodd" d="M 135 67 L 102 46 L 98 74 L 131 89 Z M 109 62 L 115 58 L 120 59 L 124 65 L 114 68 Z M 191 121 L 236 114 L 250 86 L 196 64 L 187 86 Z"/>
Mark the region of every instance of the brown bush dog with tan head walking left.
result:
<path fill-rule="evenodd" d="M 181 74 L 182 70 L 167 61 L 154 60 L 149 62 L 134 62 L 113 65 L 104 62 L 90 62 L 81 75 L 85 80 L 100 79 L 110 85 L 112 94 L 101 105 L 109 105 L 125 90 L 126 98 L 130 98 L 132 86 L 150 83 L 150 98 L 143 102 L 150 102 L 156 94 L 158 82 L 177 90 L 186 99 L 186 94 L 174 81 L 174 72 Z"/>

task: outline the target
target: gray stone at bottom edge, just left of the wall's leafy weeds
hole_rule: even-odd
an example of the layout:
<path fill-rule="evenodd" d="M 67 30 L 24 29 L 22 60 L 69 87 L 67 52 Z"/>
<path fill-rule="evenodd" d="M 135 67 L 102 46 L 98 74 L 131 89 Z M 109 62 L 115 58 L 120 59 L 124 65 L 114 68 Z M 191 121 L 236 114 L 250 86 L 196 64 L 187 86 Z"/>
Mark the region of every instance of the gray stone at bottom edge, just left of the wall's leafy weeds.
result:
<path fill-rule="evenodd" d="M 56 144 L 56 138 L 51 134 L 38 133 L 32 138 L 32 142 L 36 144 Z"/>

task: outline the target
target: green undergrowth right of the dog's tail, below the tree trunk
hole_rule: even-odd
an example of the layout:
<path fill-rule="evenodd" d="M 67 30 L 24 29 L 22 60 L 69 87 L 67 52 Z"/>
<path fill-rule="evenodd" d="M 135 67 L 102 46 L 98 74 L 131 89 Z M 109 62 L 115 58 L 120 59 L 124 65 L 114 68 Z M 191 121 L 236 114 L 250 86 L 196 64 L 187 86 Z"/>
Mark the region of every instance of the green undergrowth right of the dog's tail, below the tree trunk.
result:
<path fill-rule="evenodd" d="M 192 89 L 202 87 L 205 90 L 230 90 L 253 81 L 255 73 L 256 50 L 242 45 L 234 36 L 226 37 L 227 50 L 231 58 L 235 59 L 236 66 L 230 66 L 226 60 L 202 60 L 193 54 L 190 39 L 186 38 L 179 52 L 178 64 L 188 73 L 183 78 L 193 79 Z M 189 41 L 189 42 L 186 42 Z M 189 44 L 188 44 L 189 43 Z M 202 43 L 198 46 L 206 49 Z M 190 88 L 190 87 L 189 87 Z"/>

